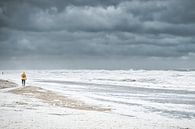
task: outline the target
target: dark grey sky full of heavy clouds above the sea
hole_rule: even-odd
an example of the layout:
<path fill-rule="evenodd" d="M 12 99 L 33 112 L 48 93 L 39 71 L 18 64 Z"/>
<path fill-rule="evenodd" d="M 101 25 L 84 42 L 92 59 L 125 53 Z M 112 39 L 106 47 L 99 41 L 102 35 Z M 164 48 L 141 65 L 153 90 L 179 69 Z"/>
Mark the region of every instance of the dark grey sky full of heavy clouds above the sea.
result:
<path fill-rule="evenodd" d="M 195 0 L 0 0 L 0 69 L 194 69 Z"/>

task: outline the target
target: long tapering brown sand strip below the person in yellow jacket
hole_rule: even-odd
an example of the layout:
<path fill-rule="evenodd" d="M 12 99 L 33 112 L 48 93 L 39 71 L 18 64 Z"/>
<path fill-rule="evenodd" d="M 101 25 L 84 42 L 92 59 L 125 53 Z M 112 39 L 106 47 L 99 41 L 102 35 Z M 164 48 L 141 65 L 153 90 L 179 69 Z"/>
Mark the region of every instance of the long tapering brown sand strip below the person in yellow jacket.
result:
<path fill-rule="evenodd" d="M 28 97 L 34 97 L 42 100 L 48 104 L 60 107 L 67 107 L 79 110 L 88 110 L 88 111 L 110 111 L 110 108 L 102 108 L 94 105 L 86 104 L 82 101 L 74 100 L 66 96 L 58 95 L 55 92 L 45 90 L 36 86 L 26 86 L 20 87 L 9 92 L 19 95 L 25 95 Z"/>

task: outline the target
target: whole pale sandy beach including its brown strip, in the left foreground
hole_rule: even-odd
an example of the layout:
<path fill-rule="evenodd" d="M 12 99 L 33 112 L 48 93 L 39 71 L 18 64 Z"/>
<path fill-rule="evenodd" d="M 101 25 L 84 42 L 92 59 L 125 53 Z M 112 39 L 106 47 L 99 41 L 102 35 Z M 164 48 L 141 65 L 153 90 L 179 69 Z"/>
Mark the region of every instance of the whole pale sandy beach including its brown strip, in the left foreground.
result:
<path fill-rule="evenodd" d="M 110 108 L 88 105 L 35 86 L 18 87 L 0 80 L 2 129 L 130 128 L 128 120 L 113 117 Z"/>

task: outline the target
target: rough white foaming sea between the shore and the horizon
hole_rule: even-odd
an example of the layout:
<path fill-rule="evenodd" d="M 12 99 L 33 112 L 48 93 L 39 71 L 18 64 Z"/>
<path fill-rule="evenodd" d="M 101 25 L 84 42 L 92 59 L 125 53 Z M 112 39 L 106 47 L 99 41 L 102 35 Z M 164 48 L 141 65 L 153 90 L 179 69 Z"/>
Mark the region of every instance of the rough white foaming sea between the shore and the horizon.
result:
<path fill-rule="evenodd" d="M 21 72 L 7 70 L 1 78 L 21 85 Z M 26 73 L 27 85 L 109 106 L 112 114 L 195 128 L 194 71 L 28 70 Z"/>

